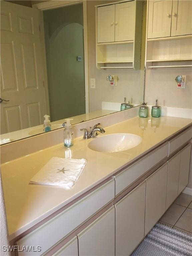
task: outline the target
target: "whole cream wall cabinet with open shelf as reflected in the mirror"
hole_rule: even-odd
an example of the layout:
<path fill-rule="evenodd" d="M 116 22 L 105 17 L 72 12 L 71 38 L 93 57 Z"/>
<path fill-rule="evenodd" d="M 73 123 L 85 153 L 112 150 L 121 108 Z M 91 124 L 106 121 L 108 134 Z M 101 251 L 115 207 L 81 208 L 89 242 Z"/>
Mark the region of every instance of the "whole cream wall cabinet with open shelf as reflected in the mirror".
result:
<path fill-rule="evenodd" d="M 96 6 L 96 66 L 140 69 L 143 1 Z"/>

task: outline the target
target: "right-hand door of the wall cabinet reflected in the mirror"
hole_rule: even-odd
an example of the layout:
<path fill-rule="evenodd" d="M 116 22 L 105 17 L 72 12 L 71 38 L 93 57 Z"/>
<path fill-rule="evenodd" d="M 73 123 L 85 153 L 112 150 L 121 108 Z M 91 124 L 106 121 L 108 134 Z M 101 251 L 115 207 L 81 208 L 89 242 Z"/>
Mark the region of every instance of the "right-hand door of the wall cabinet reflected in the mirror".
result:
<path fill-rule="evenodd" d="M 115 41 L 134 40 L 136 1 L 115 5 Z"/>

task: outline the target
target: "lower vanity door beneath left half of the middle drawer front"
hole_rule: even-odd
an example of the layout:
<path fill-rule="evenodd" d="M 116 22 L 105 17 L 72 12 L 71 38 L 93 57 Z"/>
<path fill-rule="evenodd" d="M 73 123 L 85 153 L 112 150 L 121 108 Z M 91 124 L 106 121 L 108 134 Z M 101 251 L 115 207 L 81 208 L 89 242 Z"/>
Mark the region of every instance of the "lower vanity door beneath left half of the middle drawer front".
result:
<path fill-rule="evenodd" d="M 144 181 L 116 204 L 115 255 L 130 255 L 144 238 Z"/>

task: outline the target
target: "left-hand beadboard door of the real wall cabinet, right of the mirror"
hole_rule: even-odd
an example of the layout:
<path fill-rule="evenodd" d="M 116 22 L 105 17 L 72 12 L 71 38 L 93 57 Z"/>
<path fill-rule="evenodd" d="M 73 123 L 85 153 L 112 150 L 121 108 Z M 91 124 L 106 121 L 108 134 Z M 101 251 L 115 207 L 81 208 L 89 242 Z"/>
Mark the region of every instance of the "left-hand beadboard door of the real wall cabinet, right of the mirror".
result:
<path fill-rule="evenodd" d="M 171 35 L 172 0 L 150 0 L 148 14 L 148 38 Z"/>

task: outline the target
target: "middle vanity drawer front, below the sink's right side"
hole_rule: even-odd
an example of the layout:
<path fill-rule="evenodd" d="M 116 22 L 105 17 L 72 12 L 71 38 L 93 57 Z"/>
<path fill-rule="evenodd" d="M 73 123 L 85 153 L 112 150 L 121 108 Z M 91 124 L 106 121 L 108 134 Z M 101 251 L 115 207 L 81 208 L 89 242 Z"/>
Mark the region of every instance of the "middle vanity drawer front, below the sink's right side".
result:
<path fill-rule="evenodd" d="M 167 142 L 121 173 L 115 175 L 115 195 L 118 195 L 132 182 L 164 159 L 168 155 L 168 148 Z"/>

